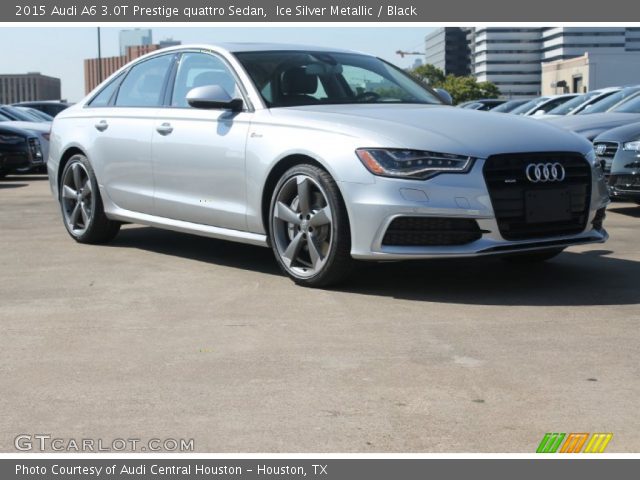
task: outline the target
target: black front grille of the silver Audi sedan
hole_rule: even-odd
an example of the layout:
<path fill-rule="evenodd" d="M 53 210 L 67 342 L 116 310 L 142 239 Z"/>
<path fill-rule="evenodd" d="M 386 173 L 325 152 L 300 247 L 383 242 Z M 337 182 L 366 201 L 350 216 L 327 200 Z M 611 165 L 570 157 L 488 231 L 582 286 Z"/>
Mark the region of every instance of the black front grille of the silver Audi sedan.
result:
<path fill-rule="evenodd" d="M 532 183 L 526 168 L 534 163 L 562 164 L 565 178 L 560 182 Z M 584 230 L 591 200 L 591 166 L 575 153 L 526 153 L 494 155 L 484 165 L 484 178 L 498 222 L 506 240 L 572 235 Z M 557 198 L 558 192 L 568 196 L 567 218 L 540 218 L 541 212 L 526 208 L 527 197 L 536 195 L 542 201 Z M 537 214 L 537 215 L 536 215 Z"/>

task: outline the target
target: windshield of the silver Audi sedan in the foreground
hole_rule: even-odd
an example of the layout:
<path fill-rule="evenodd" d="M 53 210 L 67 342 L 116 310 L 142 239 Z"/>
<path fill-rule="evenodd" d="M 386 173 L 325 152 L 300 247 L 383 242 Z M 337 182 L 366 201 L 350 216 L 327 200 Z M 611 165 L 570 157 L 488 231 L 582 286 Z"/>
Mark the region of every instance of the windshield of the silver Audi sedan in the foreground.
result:
<path fill-rule="evenodd" d="M 367 55 L 265 51 L 235 54 L 269 107 L 355 103 L 441 105 L 399 68 Z"/>

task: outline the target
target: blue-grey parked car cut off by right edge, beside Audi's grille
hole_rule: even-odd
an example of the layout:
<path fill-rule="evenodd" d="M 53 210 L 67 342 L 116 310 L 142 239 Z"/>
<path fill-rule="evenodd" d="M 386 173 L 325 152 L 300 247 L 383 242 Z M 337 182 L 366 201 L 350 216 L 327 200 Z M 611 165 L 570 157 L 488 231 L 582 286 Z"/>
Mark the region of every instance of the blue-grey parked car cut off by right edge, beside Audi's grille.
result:
<path fill-rule="evenodd" d="M 593 146 L 606 165 L 611 198 L 640 204 L 640 122 L 601 133 Z"/>

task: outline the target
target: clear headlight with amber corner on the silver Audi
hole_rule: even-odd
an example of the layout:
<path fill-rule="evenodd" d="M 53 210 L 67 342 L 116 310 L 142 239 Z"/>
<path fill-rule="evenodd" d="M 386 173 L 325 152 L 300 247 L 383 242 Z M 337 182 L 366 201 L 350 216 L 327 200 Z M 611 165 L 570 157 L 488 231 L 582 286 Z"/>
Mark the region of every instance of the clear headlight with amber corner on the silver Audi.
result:
<path fill-rule="evenodd" d="M 468 172 L 473 163 L 462 155 L 399 148 L 358 148 L 356 155 L 367 170 L 382 177 L 426 179 L 439 173 Z"/>

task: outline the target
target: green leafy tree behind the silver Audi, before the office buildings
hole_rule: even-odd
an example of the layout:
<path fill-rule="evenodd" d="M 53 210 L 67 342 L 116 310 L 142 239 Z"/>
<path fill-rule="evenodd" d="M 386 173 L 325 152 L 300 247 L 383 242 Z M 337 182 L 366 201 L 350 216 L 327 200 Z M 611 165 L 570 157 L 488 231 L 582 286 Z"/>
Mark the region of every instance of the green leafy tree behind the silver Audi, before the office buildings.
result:
<path fill-rule="evenodd" d="M 414 77 L 432 88 L 442 88 L 449 92 L 454 105 L 479 98 L 497 98 L 500 89 L 491 82 L 478 82 L 474 77 L 446 75 L 433 65 L 420 65 L 410 70 Z"/>

